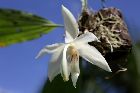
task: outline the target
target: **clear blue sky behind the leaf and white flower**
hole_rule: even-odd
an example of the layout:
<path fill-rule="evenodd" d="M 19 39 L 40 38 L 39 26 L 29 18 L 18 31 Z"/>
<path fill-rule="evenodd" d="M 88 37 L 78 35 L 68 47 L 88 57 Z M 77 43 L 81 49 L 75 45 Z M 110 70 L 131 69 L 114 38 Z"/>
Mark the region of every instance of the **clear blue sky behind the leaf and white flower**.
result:
<path fill-rule="evenodd" d="M 0 8 L 12 8 L 30 12 L 63 24 L 61 5 L 65 5 L 77 18 L 80 15 L 80 0 L 1 0 Z M 107 6 L 123 11 L 132 28 L 139 27 L 139 0 L 108 0 Z M 89 7 L 101 8 L 99 0 L 89 0 Z M 135 28 L 131 36 L 139 39 L 140 31 Z M 38 93 L 47 79 L 49 56 L 35 60 L 39 50 L 46 44 L 63 41 L 63 28 L 57 28 L 39 39 L 0 48 L 0 93 Z"/>

